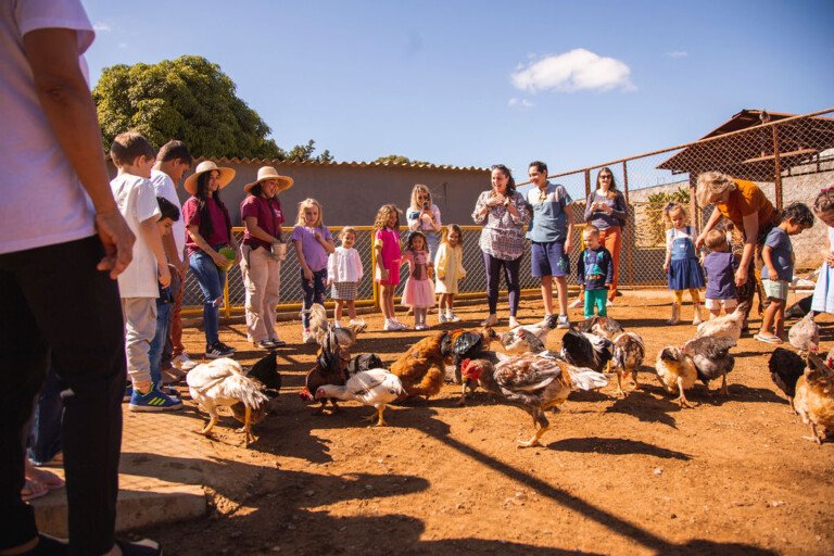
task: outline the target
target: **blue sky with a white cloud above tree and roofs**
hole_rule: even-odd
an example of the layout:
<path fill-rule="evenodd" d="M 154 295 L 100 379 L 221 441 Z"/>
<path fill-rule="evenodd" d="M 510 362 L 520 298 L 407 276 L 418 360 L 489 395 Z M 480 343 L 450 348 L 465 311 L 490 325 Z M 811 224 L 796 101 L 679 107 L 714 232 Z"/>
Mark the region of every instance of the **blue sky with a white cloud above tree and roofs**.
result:
<path fill-rule="evenodd" d="M 117 63 L 203 55 L 279 146 L 315 139 L 338 161 L 523 177 L 533 159 L 553 173 L 694 140 L 745 108 L 834 105 L 831 0 L 84 5 L 93 84 Z"/>

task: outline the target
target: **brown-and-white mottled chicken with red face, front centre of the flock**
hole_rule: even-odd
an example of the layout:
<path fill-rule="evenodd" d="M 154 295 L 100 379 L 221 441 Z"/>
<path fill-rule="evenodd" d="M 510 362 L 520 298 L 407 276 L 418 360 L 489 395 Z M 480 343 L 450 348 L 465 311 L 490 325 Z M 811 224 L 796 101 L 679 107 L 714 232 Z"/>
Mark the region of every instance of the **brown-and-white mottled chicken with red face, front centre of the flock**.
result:
<path fill-rule="evenodd" d="M 551 427 L 545 410 L 567 400 L 571 390 L 592 390 L 608 384 L 605 376 L 577 368 L 555 357 L 525 353 L 498 364 L 488 359 L 464 359 L 464 376 L 477 379 L 491 394 L 520 407 L 533 418 L 535 434 L 518 447 L 538 446 Z"/>

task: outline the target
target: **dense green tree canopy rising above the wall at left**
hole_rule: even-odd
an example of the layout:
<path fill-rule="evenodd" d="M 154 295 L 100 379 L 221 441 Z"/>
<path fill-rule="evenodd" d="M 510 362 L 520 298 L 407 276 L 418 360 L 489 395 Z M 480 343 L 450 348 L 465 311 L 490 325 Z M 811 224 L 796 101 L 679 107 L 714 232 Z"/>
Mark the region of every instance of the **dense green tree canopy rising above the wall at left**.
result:
<path fill-rule="evenodd" d="M 92 97 L 105 149 L 130 129 L 156 147 L 180 139 L 195 156 L 332 160 L 328 151 L 314 157 L 312 139 L 287 153 L 268 138 L 271 129 L 236 89 L 219 65 L 184 55 L 157 64 L 106 67 Z"/>

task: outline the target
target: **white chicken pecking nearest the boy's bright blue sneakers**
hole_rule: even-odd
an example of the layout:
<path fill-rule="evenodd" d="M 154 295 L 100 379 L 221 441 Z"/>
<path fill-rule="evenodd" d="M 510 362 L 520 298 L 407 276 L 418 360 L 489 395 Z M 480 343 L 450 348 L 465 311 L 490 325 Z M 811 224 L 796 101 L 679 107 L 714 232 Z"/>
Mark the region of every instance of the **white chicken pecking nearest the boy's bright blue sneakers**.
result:
<path fill-rule="evenodd" d="M 269 400 L 261 391 L 262 384 L 247 377 L 240 363 L 228 357 L 203 363 L 186 375 L 191 399 L 200 409 L 210 416 L 208 424 L 201 430 L 208 434 L 219 420 L 217 407 L 243 404 L 243 431 L 245 444 L 252 441 L 252 412 L 257 410 Z"/>

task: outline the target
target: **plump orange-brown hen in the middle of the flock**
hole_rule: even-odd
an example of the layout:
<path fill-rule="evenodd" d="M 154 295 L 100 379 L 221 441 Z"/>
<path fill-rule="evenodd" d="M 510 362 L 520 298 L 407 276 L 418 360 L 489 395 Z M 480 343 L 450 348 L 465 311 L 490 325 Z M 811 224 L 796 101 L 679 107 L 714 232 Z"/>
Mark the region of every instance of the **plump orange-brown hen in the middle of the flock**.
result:
<path fill-rule="evenodd" d="M 428 400 L 443 387 L 447 364 L 457 367 L 465 357 L 489 350 L 495 339 L 489 327 L 478 332 L 458 329 L 430 336 L 412 345 L 390 370 L 403 382 L 403 397 L 421 395 Z"/>

